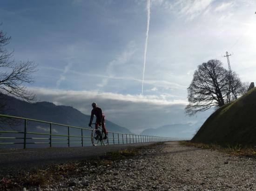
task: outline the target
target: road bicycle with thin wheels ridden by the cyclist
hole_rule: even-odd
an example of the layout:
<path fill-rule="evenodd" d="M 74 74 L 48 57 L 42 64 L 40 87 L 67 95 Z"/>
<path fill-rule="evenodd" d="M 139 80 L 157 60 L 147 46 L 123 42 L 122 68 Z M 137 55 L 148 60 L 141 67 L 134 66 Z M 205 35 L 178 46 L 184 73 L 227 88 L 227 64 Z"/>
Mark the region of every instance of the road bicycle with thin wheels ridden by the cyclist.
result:
<path fill-rule="evenodd" d="M 103 131 L 103 129 L 101 127 L 98 127 L 98 129 L 96 129 L 96 123 L 92 123 L 92 124 L 95 125 L 95 128 L 92 130 L 92 133 L 91 133 L 92 144 L 94 146 L 97 146 L 100 141 L 101 145 L 108 145 L 108 134 L 107 134 L 107 139 L 103 139 L 105 137 L 105 132 Z"/>

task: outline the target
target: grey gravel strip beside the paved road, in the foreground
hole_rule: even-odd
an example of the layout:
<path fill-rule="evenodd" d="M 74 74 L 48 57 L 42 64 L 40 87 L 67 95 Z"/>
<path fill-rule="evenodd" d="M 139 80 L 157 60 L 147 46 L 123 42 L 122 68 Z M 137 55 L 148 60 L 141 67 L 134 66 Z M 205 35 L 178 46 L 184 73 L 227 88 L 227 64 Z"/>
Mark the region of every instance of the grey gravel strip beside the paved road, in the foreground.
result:
<path fill-rule="evenodd" d="M 30 190 L 256 190 L 255 172 L 254 159 L 166 142 L 130 159 L 84 163 L 78 173 Z"/>

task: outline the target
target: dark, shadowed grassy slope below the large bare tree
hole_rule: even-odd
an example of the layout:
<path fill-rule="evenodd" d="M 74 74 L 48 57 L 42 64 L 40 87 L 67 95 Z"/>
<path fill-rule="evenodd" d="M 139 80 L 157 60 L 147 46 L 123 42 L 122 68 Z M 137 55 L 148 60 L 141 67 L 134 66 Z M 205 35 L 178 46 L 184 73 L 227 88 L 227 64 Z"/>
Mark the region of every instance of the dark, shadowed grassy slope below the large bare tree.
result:
<path fill-rule="evenodd" d="M 219 108 L 205 121 L 193 142 L 256 146 L 256 88 Z"/>

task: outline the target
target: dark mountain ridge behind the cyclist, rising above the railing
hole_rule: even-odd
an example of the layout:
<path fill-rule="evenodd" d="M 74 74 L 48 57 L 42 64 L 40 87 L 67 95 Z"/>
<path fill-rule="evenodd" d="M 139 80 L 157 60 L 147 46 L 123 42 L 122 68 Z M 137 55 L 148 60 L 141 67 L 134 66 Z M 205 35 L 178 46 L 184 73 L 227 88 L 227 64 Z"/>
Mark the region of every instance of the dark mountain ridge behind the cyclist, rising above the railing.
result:
<path fill-rule="evenodd" d="M 56 106 L 51 102 L 29 103 L 6 95 L 1 95 L 1 97 L 6 102 L 5 111 L 3 113 L 5 115 L 55 122 L 76 127 L 88 127 L 90 121 L 89 115 L 82 114 L 79 110 L 71 106 Z M 95 118 L 94 116 L 94 120 Z M 108 120 L 106 120 L 106 127 L 108 131 L 111 132 L 133 134 L 127 128 L 121 127 Z"/>

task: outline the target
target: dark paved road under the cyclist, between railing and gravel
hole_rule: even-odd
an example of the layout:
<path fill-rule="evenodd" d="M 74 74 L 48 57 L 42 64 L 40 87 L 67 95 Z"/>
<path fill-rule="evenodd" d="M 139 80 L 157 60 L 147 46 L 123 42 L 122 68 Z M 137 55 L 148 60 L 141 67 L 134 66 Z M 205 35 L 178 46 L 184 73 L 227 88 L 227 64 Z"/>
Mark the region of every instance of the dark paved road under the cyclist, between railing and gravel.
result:
<path fill-rule="evenodd" d="M 17 170 L 88 159 L 110 151 L 150 144 L 152 142 L 107 146 L 0 150 L 0 175 Z"/>

